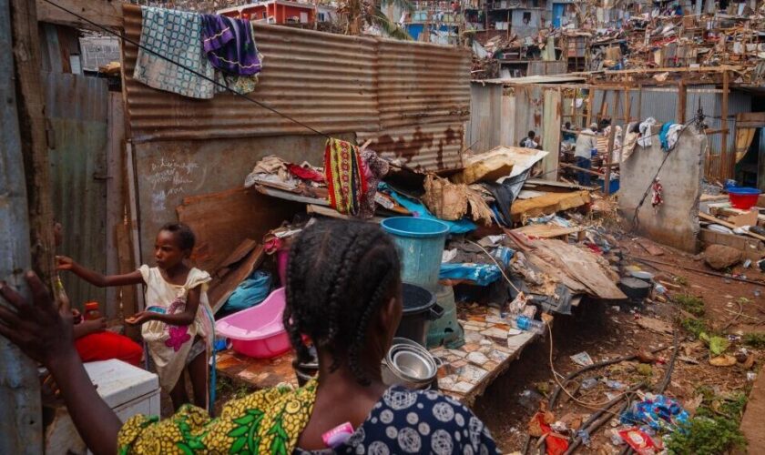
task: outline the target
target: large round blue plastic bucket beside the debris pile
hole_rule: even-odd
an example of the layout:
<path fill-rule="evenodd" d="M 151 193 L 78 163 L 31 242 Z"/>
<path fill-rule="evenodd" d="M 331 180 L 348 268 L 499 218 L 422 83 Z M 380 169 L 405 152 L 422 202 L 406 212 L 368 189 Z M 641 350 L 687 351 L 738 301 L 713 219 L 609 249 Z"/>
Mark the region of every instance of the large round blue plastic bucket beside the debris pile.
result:
<path fill-rule="evenodd" d="M 418 217 L 386 218 L 380 225 L 399 249 L 402 281 L 435 291 L 449 225 Z"/>

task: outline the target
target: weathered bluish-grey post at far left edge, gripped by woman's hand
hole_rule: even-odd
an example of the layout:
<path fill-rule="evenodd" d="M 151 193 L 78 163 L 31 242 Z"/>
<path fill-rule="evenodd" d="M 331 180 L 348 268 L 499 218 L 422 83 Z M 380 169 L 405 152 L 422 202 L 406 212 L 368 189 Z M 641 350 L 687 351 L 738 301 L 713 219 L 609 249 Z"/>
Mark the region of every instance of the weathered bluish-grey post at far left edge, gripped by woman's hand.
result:
<path fill-rule="evenodd" d="M 29 298 L 29 288 L 22 277 L 31 266 L 31 258 L 24 157 L 28 135 L 22 133 L 21 127 L 28 124 L 21 126 L 26 115 L 22 117 L 25 106 L 17 99 L 23 94 L 18 91 L 18 75 L 21 73 L 15 69 L 27 65 L 18 61 L 24 47 L 14 48 L 14 45 L 36 44 L 36 38 L 30 35 L 30 23 L 35 25 L 36 32 L 34 3 L 0 0 L 0 47 L 4 50 L 0 54 L 0 68 L 3 68 L 0 71 L 0 99 L 3 100 L 0 103 L 0 140 L 3 141 L 0 146 L 0 163 L 3 163 L 0 171 L 0 279 L 18 289 L 25 298 Z M 21 31 L 26 33 L 17 35 Z M 20 37 L 25 39 L 18 42 Z M 30 43 L 29 39 L 33 41 Z M 39 66 L 36 74 L 39 81 Z M 52 235 L 52 226 L 49 230 Z M 7 308 L 9 305 L 0 298 L 0 306 Z M 43 453 L 43 415 L 36 361 L 0 336 L 0 365 L 0 453 Z"/>

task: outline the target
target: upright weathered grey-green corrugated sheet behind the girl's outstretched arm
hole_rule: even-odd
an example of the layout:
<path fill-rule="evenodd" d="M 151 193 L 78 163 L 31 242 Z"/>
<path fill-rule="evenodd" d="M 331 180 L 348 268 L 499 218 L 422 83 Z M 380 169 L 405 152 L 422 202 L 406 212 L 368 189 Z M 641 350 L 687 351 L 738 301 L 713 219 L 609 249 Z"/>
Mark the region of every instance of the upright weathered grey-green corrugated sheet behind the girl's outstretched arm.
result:
<path fill-rule="evenodd" d="M 46 118 L 53 129 L 48 155 L 53 207 L 56 219 L 64 227 L 61 253 L 87 268 L 105 271 L 107 80 L 58 73 L 43 73 L 42 80 Z M 76 307 L 96 300 L 104 305 L 102 309 L 108 309 L 105 289 L 91 286 L 72 274 L 62 274 L 61 278 Z M 114 303 L 111 302 L 111 309 Z"/>

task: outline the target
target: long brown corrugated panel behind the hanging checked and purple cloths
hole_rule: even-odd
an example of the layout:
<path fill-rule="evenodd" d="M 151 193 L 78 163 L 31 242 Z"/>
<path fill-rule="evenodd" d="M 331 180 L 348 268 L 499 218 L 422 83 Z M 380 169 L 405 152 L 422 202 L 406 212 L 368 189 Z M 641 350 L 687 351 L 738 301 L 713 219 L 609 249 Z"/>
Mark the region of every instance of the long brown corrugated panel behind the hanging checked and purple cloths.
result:
<path fill-rule="evenodd" d="M 124 5 L 123 10 L 125 34 L 138 42 L 140 8 Z M 250 97 L 323 133 L 380 129 L 376 40 L 279 25 L 254 28 L 264 60 L 260 83 Z M 239 96 L 198 100 L 138 83 L 132 78 L 138 47 L 127 41 L 123 45 L 135 141 L 313 134 Z"/>

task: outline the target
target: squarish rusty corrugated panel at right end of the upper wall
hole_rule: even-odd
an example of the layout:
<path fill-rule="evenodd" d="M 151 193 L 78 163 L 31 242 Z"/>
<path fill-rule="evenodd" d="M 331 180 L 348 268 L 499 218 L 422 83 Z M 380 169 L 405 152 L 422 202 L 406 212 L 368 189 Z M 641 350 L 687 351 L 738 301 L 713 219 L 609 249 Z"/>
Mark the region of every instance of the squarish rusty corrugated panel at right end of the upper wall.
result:
<path fill-rule="evenodd" d="M 382 129 L 468 119 L 468 49 L 380 39 L 377 61 Z"/>

